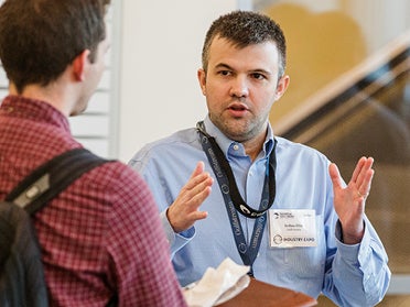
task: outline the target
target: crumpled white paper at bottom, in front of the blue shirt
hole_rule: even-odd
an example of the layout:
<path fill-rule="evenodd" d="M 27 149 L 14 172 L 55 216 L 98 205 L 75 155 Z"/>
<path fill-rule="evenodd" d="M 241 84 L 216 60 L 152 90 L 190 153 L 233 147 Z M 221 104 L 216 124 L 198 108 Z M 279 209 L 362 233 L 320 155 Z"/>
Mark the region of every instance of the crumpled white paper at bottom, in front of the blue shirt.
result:
<path fill-rule="evenodd" d="M 249 266 L 239 265 L 229 257 L 215 270 L 208 267 L 204 276 L 184 289 L 190 307 L 211 307 L 239 294 L 249 285 Z"/>

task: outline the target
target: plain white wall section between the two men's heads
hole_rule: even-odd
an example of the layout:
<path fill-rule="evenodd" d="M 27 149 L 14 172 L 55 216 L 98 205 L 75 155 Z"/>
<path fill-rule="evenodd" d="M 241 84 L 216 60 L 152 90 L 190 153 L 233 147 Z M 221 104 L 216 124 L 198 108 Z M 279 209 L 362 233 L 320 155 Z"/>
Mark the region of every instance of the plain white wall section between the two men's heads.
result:
<path fill-rule="evenodd" d="M 118 157 L 206 114 L 196 80 L 205 32 L 238 0 L 123 0 L 119 73 Z"/>

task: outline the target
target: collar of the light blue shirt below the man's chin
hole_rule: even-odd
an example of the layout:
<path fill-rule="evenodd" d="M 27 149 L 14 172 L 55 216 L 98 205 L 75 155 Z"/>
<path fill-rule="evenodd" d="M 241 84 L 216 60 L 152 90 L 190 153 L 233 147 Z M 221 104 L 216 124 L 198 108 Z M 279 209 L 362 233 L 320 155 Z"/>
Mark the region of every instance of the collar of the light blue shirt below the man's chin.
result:
<path fill-rule="evenodd" d="M 225 156 L 228 156 L 233 146 L 239 145 L 241 150 L 241 155 L 245 155 L 245 149 L 242 144 L 228 139 L 209 119 L 209 116 L 206 116 L 204 119 L 206 132 L 215 138 L 216 143 L 219 145 L 220 150 L 224 152 Z M 273 149 L 273 130 L 270 123 L 268 123 L 268 134 L 263 144 L 263 152 L 260 153 L 259 157 L 268 157 Z M 238 151 L 239 152 L 239 151 Z"/>

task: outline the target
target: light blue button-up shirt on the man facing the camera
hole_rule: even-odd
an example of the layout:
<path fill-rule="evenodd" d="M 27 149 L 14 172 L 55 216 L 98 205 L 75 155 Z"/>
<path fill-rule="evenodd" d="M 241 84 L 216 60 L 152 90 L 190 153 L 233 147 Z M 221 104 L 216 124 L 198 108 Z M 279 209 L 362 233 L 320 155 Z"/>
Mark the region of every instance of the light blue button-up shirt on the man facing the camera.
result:
<path fill-rule="evenodd" d="M 258 209 L 267 158 L 273 146 L 271 128 L 263 151 L 252 162 L 240 143 L 227 139 L 208 118 L 204 122 L 207 133 L 216 139 L 229 161 L 244 200 Z M 365 235 L 360 244 L 343 244 L 333 208 L 328 160 L 305 145 L 276 139 L 277 194 L 271 209 L 314 209 L 317 246 L 271 248 L 267 222 L 252 266 L 255 277 L 312 297 L 323 292 L 342 306 L 377 304 L 387 290 L 390 271 L 387 254 L 371 223 L 365 220 Z M 182 286 L 199 279 L 207 267 L 217 267 L 227 256 L 242 263 L 215 177 L 212 194 L 201 206 L 201 210 L 208 212 L 205 220 L 196 221 L 186 231 L 174 233 L 166 219 L 168 207 L 186 184 L 198 161 L 203 161 L 205 169 L 214 175 L 194 128 L 145 145 L 130 161 L 130 165 L 147 180 L 158 202 L 171 245 L 172 262 Z M 238 216 L 249 242 L 255 219 Z"/>

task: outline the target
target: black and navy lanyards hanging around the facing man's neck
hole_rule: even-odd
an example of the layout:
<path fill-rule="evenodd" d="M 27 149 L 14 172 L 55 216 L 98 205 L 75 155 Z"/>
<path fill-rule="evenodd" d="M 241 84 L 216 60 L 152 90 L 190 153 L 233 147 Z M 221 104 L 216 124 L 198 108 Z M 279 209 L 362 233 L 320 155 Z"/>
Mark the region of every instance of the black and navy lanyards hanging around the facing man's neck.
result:
<path fill-rule="evenodd" d="M 274 140 L 273 150 L 269 156 L 259 210 L 255 210 L 249 207 L 240 196 L 230 165 L 215 139 L 206 133 L 203 122 L 198 122 L 196 128 L 202 135 L 202 138 L 199 138 L 202 147 L 218 180 L 239 255 L 244 264 L 250 266 L 250 275 L 252 275 L 252 264 L 262 240 L 267 221 L 267 210 L 273 205 L 276 196 L 274 171 L 277 160 L 274 150 L 277 140 Z M 240 212 L 247 218 L 256 219 L 249 246 L 246 243 L 244 230 L 237 212 Z"/>

